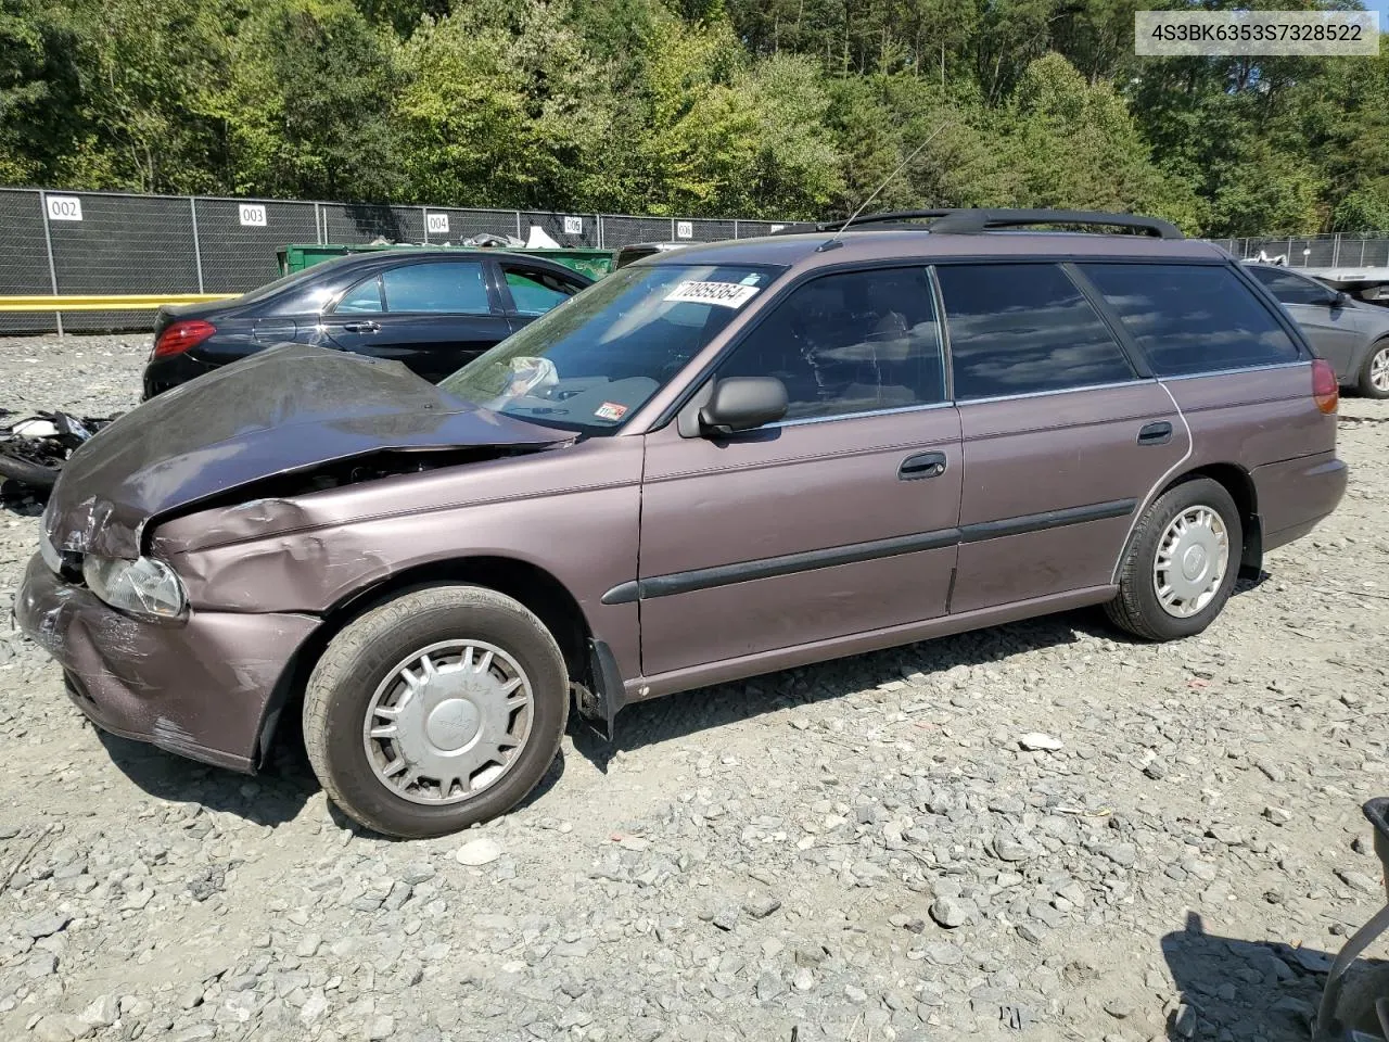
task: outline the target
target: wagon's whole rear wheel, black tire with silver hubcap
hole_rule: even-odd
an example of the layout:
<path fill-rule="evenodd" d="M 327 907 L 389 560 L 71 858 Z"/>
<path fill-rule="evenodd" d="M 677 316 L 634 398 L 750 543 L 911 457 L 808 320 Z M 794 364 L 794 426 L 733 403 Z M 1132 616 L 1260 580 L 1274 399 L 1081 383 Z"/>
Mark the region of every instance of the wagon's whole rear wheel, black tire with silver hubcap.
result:
<path fill-rule="evenodd" d="M 1149 640 L 1201 632 L 1220 614 L 1239 577 L 1239 508 L 1210 478 L 1174 485 L 1139 520 L 1120 567 L 1110 620 Z"/>

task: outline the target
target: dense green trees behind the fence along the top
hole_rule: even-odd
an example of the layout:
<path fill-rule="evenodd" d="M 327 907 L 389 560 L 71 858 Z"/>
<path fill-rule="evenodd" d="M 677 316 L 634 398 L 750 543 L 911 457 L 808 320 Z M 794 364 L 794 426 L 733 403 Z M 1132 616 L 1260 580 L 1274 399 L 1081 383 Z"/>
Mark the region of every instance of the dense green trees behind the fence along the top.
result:
<path fill-rule="evenodd" d="M 1136 58 L 1138 6 L 0 0 L 0 182 L 824 217 L 943 126 L 882 206 L 1389 226 L 1389 47 Z"/>

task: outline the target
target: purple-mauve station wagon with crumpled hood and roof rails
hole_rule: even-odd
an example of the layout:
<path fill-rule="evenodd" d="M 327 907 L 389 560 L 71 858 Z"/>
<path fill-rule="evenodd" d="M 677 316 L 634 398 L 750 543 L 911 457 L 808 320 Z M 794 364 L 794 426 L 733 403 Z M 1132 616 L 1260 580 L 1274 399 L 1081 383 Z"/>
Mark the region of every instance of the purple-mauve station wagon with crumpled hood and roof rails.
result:
<path fill-rule="evenodd" d="M 1040 217 L 1038 217 L 1038 213 Z M 1026 221 L 1146 235 L 1001 232 Z M 1161 221 L 961 211 L 622 268 L 435 386 L 290 345 L 74 453 L 17 597 L 100 727 L 286 713 L 381 832 L 513 807 L 628 702 L 1104 604 L 1206 629 L 1346 488 L 1338 386 Z"/>

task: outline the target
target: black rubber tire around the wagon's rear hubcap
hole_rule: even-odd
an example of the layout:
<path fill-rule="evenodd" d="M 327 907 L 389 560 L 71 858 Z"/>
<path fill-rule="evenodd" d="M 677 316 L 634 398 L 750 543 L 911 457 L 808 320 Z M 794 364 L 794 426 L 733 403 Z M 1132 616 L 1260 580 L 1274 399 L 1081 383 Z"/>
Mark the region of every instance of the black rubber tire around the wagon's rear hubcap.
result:
<path fill-rule="evenodd" d="M 1225 574 L 1214 596 L 1200 611 L 1179 618 L 1168 613 L 1158 600 L 1153 565 L 1168 525 L 1178 514 L 1199 506 L 1214 510 L 1225 525 Z M 1192 478 L 1174 485 L 1157 497 L 1133 528 L 1120 567 L 1120 592 L 1104 606 L 1104 613 L 1121 629 L 1147 640 L 1176 640 L 1201 632 L 1221 613 L 1235 589 L 1243 542 L 1239 508 L 1224 485 L 1210 478 Z"/>

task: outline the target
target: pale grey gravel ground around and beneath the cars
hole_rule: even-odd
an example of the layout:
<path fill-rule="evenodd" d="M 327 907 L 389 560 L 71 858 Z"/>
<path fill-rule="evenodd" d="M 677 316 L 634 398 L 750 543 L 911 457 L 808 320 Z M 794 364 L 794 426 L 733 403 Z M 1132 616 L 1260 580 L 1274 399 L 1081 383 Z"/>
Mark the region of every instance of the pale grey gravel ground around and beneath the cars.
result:
<path fill-rule="evenodd" d="M 146 347 L 0 340 L 0 407 L 129 407 Z M 1383 900 L 1389 407 L 1342 413 L 1342 508 L 1201 638 L 1075 613 L 636 706 L 446 841 L 293 750 L 101 736 L 0 628 L 0 1036 L 1306 1038 Z"/>

